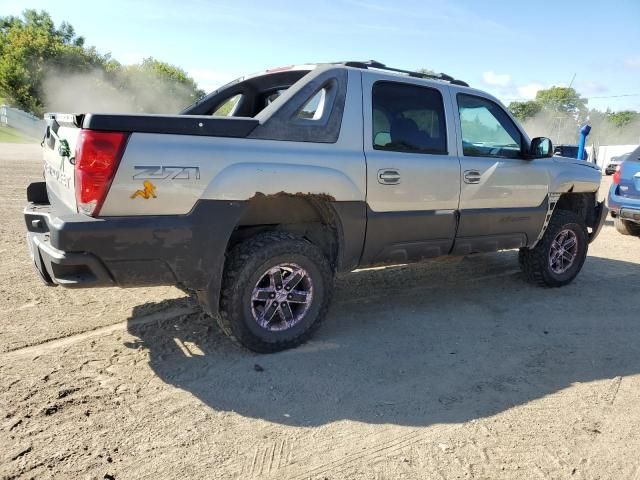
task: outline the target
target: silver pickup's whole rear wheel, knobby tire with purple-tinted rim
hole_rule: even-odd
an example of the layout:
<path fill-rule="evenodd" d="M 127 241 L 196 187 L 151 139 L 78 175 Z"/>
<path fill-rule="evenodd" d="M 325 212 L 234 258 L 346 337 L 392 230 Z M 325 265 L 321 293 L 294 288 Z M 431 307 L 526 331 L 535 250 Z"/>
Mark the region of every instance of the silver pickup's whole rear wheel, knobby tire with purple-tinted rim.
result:
<path fill-rule="evenodd" d="M 331 300 L 333 274 L 322 251 L 286 232 L 268 232 L 235 247 L 225 265 L 218 323 L 260 353 L 305 342 Z"/>

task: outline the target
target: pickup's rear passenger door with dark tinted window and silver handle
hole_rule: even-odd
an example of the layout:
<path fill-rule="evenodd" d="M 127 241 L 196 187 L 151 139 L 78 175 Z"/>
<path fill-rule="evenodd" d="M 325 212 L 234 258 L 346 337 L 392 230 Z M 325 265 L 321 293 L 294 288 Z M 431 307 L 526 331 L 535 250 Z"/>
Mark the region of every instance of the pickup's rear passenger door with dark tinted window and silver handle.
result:
<path fill-rule="evenodd" d="M 460 196 L 448 87 L 374 72 L 362 78 L 368 208 L 361 263 L 447 254 Z"/>

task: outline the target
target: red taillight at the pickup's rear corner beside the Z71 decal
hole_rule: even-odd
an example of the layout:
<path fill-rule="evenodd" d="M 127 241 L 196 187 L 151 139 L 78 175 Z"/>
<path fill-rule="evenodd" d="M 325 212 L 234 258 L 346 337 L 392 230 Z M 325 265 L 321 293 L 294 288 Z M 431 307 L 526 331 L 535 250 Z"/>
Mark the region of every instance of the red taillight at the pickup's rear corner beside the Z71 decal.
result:
<path fill-rule="evenodd" d="M 100 213 L 118 169 L 129 134 L 81 130 L 76 145 L 76 203 L 78 211 Z"/>

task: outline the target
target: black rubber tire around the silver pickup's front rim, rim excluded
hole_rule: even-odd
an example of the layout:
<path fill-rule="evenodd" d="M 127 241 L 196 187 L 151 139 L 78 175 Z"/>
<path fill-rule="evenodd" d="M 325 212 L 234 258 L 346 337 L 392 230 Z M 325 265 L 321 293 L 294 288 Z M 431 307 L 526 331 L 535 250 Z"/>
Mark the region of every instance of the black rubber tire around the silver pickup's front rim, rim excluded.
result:
<path fill-rule="evenodd" d="M 552 268 L 551 249 L 556 237 L 571 231 L 577 241 L 575 258 L 570 267 L 557 273 Z M 561 287 L 570 283 L 580 272 L 587 257 L 589 235 L 584 219 L 574 212 L 556 210 L 542 239 L 533 249 L 521 249 L 519 260 L 527 280 L 542 287 Z"/>

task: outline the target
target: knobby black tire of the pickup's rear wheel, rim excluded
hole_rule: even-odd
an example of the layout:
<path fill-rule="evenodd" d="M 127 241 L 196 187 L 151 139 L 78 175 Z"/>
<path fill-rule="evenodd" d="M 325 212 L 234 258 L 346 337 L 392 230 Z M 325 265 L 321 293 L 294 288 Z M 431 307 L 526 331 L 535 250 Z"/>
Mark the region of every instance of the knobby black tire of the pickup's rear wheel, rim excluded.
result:
<path fill-rule="evenodd" d="M 304 269 L 313 295 L 298 323 L 273 331 L 256 320 L 252 295 L 265 273 L 283 264 Z M 218 324 L 231 339 L 255 352 L 293 348 L 307 341 L 318 329 L 327 315 L 332 290 L 333 273 L 318 247 L 287 232 L 263 233 L 237 245 L 227 256 Z"/>

